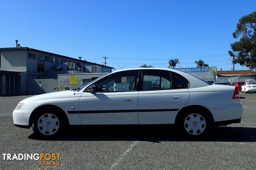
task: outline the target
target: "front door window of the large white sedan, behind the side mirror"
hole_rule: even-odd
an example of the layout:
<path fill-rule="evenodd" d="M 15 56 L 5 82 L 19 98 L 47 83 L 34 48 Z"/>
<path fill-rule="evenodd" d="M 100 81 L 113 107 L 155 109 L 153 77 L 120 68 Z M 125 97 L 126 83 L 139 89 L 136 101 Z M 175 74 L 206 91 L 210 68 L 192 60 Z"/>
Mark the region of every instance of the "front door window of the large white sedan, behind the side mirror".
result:
<path fill-rule="evenodd" d="M 99 80 L 94 85 L 98 86 L 99 92 L 124 92 L 134 91 L 139 70 L 117 72 Z"/>

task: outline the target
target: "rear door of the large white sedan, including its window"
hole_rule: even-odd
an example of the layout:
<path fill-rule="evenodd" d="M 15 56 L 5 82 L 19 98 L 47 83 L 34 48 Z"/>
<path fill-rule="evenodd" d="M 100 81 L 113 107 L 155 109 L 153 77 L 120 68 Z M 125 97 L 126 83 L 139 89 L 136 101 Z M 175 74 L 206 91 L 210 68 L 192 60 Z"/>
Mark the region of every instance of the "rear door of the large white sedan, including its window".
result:
<path fill-rule="evenodd" d="M 138 95 L 140 124 L 172 124 L 188 102 L 188 81 L 168 70 L 142 70 Z"/>

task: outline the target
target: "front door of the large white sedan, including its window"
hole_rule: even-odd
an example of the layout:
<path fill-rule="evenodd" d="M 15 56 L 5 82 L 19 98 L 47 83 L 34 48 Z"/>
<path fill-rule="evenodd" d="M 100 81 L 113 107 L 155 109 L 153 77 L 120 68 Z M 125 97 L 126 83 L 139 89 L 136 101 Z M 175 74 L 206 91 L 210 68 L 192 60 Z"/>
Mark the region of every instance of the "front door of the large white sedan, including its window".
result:
<path fill-rule="evenodd" d="M 82 125 L 138 124 L 139 70 L 110 74 L 94 83 L 97 92 L 84 92 L 79 101 Z"/>

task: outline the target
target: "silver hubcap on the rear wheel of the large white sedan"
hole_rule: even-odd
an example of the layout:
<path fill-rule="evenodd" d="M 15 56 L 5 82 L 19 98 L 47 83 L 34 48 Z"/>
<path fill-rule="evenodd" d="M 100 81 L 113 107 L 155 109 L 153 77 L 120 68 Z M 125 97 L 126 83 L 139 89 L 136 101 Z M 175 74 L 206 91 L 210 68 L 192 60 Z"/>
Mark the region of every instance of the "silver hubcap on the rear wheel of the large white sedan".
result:
<path fill-rule="evenodd" d="M 184 121 L 185 129 L 191 135 L 199 135 L 206 128 L 206 122 L 202 115 L 192 113 L 188 115 Z"/>

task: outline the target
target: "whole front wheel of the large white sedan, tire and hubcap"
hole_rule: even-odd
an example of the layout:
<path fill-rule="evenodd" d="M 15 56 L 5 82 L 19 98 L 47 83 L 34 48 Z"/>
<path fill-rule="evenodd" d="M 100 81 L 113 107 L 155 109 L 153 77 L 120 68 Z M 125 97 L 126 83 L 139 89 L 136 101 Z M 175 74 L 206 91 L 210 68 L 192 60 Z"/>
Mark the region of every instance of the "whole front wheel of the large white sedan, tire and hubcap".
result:
<path fill-rule="evenodd" d="M 64 119 L 57 111 L 41 111 L 35 115 L 32 129 L 41 137 L 53 138 L 64 129 Z"/>

